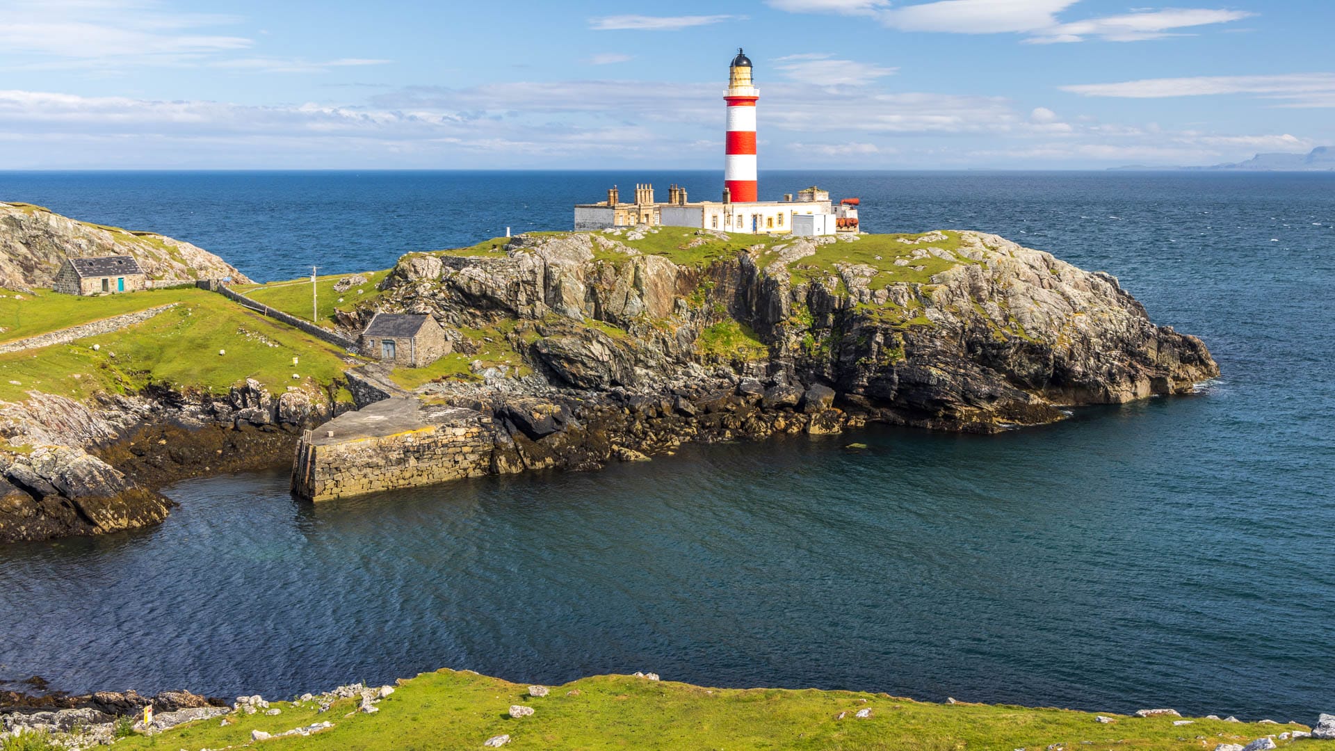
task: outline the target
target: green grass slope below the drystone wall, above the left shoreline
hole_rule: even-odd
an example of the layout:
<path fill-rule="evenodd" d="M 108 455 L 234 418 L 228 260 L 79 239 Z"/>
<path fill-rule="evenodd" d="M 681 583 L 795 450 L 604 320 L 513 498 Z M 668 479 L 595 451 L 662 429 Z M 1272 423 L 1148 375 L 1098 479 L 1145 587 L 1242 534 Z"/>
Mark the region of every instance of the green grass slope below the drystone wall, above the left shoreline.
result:
<path fill-rule="evenodd" d="M 148 384 L 219 393 L 244 378 L 282 393 L 286 386 L 323 388 L 342 376 L 347 355 L 340 349 L 219 294 L 184 291 L 182 305 L 120 331 L 0 355 L 0 400 L 21 401 L 29 390 L 83 400 Z M 219 355 L 220 349 L 227 354 Z"/>

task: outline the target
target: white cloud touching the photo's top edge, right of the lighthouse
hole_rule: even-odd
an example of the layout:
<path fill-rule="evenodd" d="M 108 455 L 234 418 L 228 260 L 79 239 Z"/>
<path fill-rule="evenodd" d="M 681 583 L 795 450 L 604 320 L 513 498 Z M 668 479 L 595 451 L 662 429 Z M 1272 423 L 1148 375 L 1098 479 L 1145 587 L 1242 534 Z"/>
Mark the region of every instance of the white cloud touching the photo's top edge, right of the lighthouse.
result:
<path fill-rule="evenodd" d="M 1140 41 L 1176 36 L 1179 29 L 1222 24 L 1255 13 L 1207 8 L 1137 8 L 1129 13 L 1063 21 L 1079 0 L 937 0 L 888 7 L 876 0 L 769 0 L 789 12 L 869 15 L 889 28 L 912 32 L 1023 33 L 1029 43 Z"/>

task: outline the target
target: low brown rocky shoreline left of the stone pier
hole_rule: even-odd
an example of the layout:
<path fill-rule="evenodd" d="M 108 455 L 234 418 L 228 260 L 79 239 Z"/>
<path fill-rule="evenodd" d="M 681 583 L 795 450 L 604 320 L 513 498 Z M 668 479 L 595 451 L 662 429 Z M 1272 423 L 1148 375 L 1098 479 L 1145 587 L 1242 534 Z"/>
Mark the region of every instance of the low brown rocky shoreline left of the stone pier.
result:
<path fill-rule="evenodd" d="M 151 527 L 180 477 L 286 466 L 295 434 L 334 417 L 326 396 L 274 396 L 256 381 L 222 398 L 155 390 L 91 404 L 31 394 L 0 405 L 0 543 Z"/>

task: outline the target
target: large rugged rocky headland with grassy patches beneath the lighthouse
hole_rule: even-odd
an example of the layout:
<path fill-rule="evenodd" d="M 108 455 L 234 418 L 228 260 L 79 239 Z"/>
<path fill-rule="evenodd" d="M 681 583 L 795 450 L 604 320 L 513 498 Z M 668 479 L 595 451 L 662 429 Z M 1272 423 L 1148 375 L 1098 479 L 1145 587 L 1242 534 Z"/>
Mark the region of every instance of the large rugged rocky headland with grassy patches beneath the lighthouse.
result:
<path fill-rule="evenodd" d="M 996 235 L 745 242 L 662 227 L 410 254 L 379 306 L 433 313 L 457 351 L 502 338 L 517 361 L 470 369 L 514 390 L 670 397 L 722 367 L 766 389 L 830 389 L 862 420 L 949 430 L 1049 422 L 1219 373 L 1200 339 L 1153 325 L 1113 277 Z"/>

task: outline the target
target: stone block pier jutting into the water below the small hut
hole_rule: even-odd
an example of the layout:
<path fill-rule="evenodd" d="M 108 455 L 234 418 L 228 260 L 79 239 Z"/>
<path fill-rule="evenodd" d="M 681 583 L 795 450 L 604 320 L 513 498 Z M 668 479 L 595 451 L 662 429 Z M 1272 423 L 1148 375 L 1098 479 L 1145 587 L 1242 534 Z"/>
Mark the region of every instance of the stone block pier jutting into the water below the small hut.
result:
<path fill-rule="evenodd" d="M 495 437 L 490 414 L 417 398 L 378 401 L 302 438 L 292 492 L 327 501 L 490 474 Z"/>

